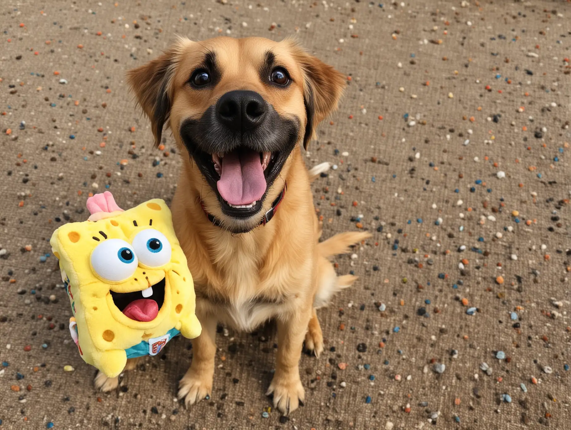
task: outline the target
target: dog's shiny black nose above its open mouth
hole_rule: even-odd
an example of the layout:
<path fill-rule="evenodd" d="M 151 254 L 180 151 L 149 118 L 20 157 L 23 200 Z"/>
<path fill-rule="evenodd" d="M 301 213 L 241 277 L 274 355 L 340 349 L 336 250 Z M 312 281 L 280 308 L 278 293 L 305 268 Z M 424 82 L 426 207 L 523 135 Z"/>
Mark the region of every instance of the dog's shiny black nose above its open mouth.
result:
<path fill-rule="evenodd" d="M 228 91 L 216 104 L 220 121 L 234 132 L 258 127 L 266 116 L 266 102 L 254 91 Z"/>

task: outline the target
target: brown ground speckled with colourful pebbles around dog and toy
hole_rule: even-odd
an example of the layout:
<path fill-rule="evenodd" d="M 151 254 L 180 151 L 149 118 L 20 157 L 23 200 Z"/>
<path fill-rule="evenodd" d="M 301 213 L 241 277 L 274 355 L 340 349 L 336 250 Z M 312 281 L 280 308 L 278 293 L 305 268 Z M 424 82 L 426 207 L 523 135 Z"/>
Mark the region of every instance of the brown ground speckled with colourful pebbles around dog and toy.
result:
<path fill-rule="evenodd" d="M 0 428 L 571 428 L 571 3 L 6 0 L 0 15 Z M 373 238 L 336 259 L 360 279 L 319 312 L 326 351 L 301 358 L 289 419 L 262 416 L 262 331 L 220 329 L 212 398 L 191 411 L 184 339 L 96 392 L 43 258 L 90 192 L 172 197 L 174 142 L 152 148 L 124 73 L 175 34 L 295 34 L 348 77 L 307 161 L 337 166 L 314 184 L 324 236 Z"/>

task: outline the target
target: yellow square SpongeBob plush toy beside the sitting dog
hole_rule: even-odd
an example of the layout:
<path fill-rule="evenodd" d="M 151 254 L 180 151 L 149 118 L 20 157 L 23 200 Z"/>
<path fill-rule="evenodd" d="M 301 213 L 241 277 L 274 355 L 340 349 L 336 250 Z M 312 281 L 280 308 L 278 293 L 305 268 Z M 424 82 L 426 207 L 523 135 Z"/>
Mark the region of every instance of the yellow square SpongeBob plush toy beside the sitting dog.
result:
<path fill-rule="evenodd" d="M 108 377 L 127 359 L 156 355 L 172 337 L 200 335 L 186 256 L 160 199 L 123 211 L 110 192 L 87 200 L 85 222 L 59 227 L 50 244 L 71 303 L 71 337 Z"/>

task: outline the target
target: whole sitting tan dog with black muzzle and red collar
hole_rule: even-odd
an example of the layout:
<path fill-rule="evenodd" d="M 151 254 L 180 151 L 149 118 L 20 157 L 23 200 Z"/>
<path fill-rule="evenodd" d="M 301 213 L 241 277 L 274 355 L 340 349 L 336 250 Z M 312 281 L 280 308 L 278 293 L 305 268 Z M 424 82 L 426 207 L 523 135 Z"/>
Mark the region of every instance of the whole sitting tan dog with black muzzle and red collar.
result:
<path fill-rule="evenodd" d="M 253 331 L 275 319 L 278 351 L 267 394 L 288 414 L 304 400 L 304 342 L 317 357 L 323 351 L 316 309 L 356 279 L 337 276 L 329 258 L 369 236 L 344 232 L 319 242 L 310 182 L 321 166 L 308 171 L 301 152 L 336 110 L 346 78 L 292 39 L 218 37 L 179 38 L 128 71 L 127 81 L 155 144 L 166 125 L 184 160 L 172 218 L 194 278 L 202 334 L 192 340 L 178 396 L 190 406 L 212 393 L 217 324 Z M 117 384 L 97 378 L 103 389 Z"/>

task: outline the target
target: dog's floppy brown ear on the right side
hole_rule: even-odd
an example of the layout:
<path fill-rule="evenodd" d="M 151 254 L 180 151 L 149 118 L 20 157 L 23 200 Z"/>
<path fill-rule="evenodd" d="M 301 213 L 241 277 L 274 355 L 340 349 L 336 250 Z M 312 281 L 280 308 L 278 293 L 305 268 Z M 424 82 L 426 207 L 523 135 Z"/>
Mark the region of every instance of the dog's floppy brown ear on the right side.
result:
<path fill-rule="evenodd" d="M 315 127 L 337 109 L 337 103 L 347 85 L 345 75 L 325 64 L 319 58 L 305 52 L 295 42 L 288 41 L 292 54 L 304 71 L 303 101 L 307 124 L 303 137 L 303 147 L 307 149 Z"/>

